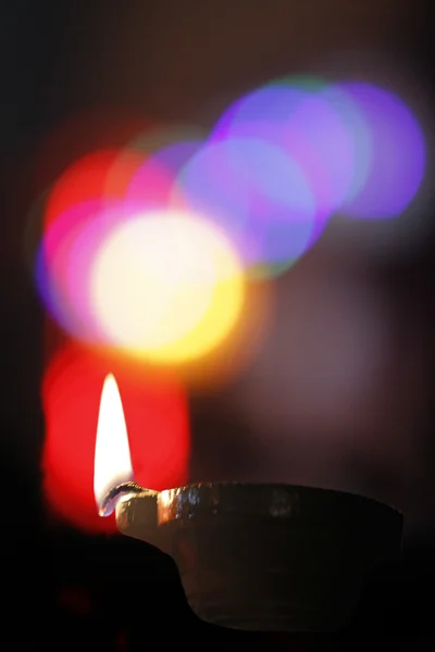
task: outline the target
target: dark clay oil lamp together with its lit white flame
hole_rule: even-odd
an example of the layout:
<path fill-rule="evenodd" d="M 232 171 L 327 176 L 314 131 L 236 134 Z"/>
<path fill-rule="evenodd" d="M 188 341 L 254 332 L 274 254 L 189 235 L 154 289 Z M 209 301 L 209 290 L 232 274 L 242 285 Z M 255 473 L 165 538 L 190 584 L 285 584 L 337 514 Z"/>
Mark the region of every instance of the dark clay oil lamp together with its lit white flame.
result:
<path fill-rule="evenodd" d="M 395 557 L 402 516 L 372 499 L 283 484 L 134 481 L 116 381 L 104 381 L 95 494 L 119 530 L 171 555 L 197 616 L 256 631 L 338 631 L 365 575 Z"/>

